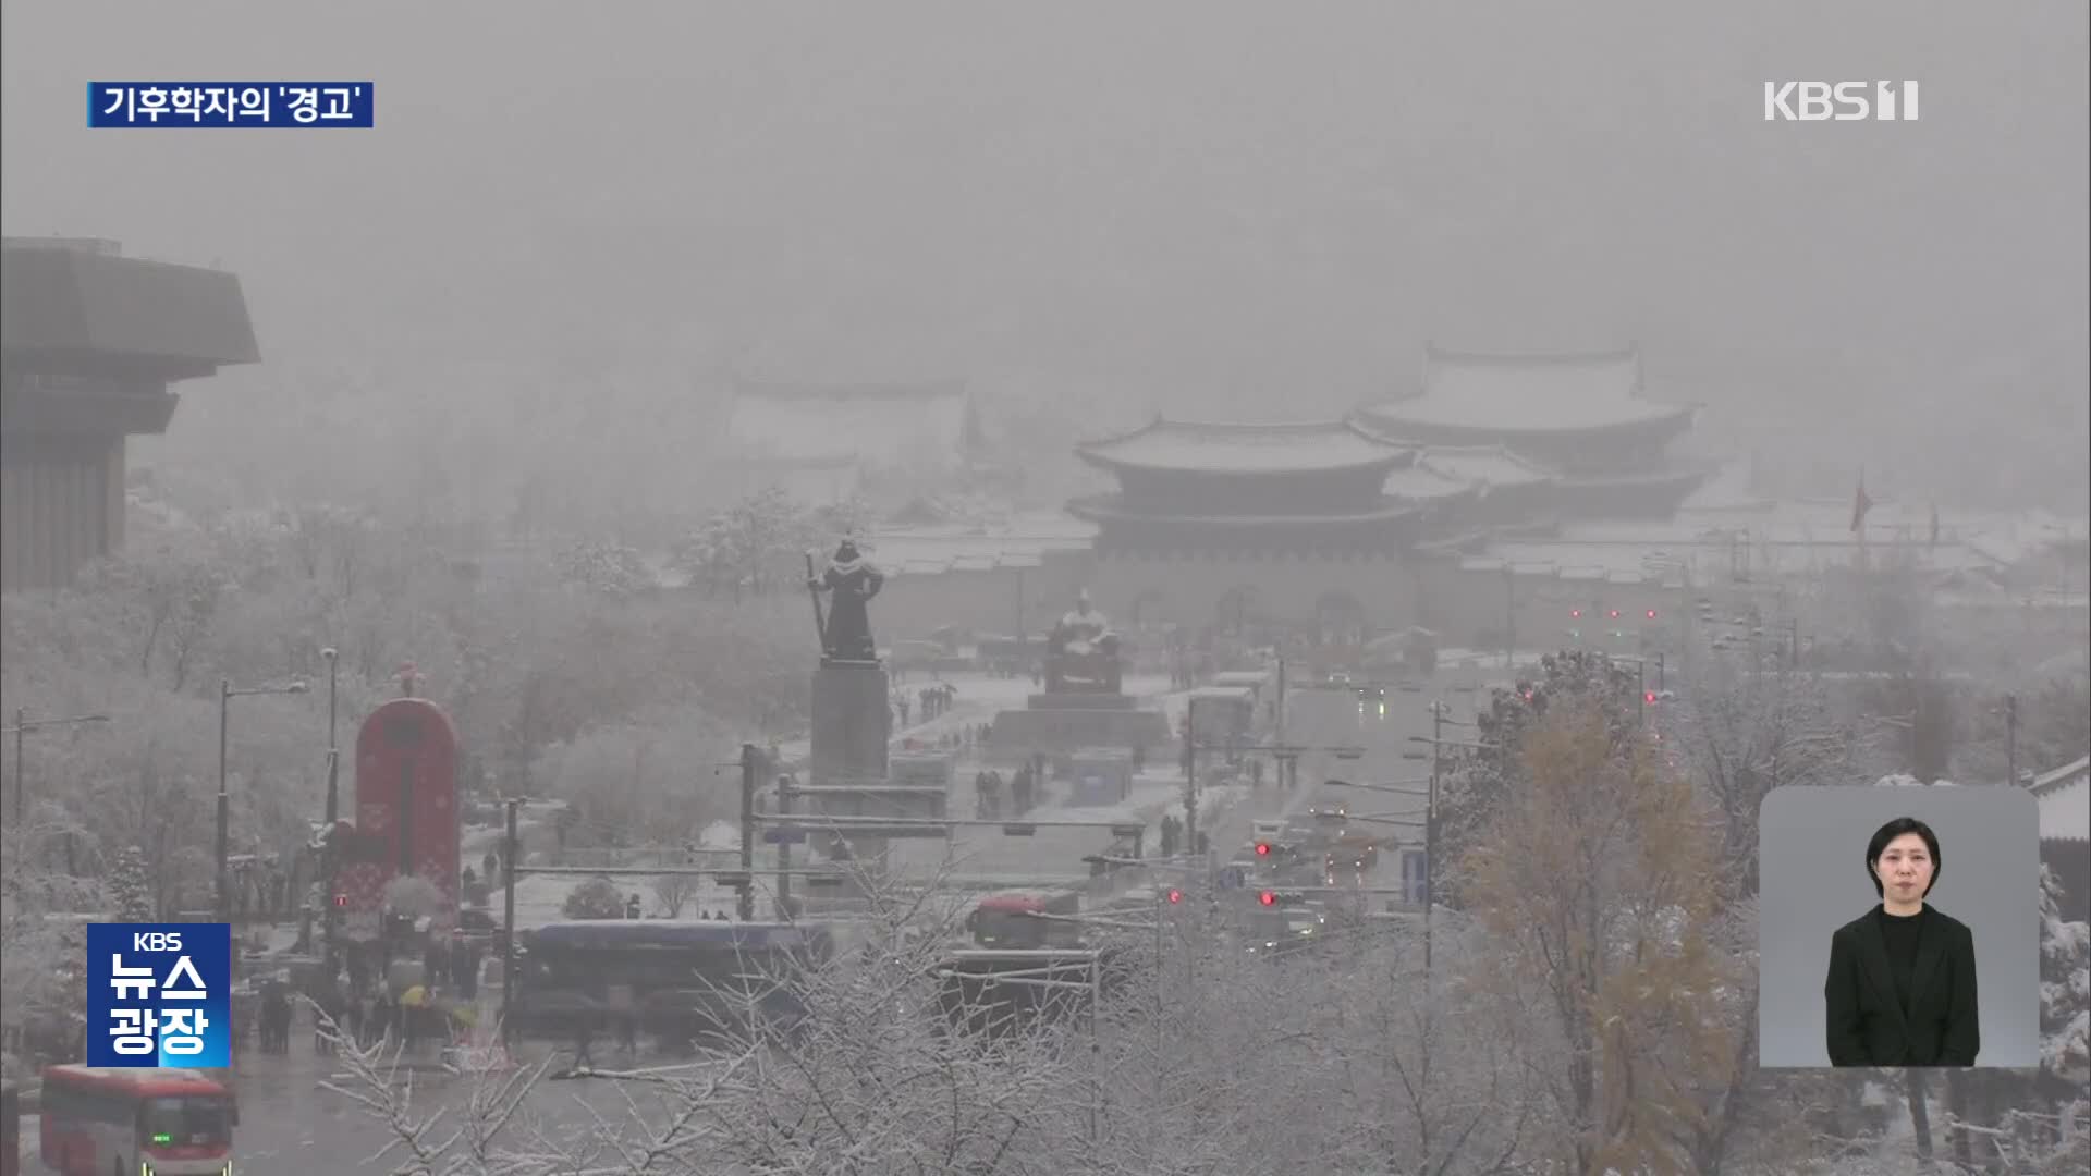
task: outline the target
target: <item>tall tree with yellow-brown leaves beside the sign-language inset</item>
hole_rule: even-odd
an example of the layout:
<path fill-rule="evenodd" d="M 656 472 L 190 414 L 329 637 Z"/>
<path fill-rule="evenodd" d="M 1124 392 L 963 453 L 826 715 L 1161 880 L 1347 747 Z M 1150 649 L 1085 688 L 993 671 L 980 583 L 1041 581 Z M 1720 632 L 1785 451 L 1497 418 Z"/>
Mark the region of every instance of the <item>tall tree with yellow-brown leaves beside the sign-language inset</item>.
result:
<path fill-rule="evenodd" d="M 1731 1050 L 1733 977 L 1710 946 L 1713 814 L 1595 697 L 1556 699 L 1524 732 L 1510 799 L 1464 870 L 1499 956 L 1476 979 L 1556 1015 L 1558 1048 L 1535 1065 L 1552 1071 L 1570 1172 L 1675 1170 L 1698 1092 Z"/>

